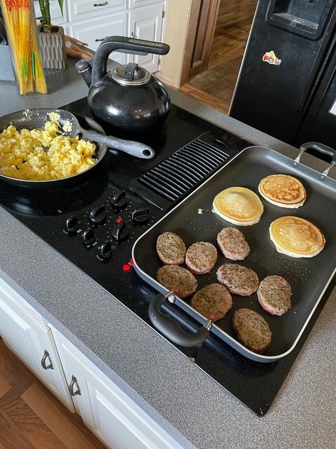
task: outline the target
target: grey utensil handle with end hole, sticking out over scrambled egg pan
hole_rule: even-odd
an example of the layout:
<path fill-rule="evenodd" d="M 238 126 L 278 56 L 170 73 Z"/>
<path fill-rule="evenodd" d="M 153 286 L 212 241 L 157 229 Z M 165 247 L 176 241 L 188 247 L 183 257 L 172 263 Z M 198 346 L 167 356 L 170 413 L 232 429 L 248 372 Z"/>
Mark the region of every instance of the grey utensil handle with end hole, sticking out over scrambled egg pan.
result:
<path fill-rule="evenodd" d="M 128 153 L 136 158 L 152 159 L 155 156 L 155 151 L 141 142 L 118 139 L 118 137 L 113 136 L 103 136 L 96 133 L 96 131 L 89 131 L 88 129 L 83 130 L 83 136 L 98 141 L 99 144 Z"/>

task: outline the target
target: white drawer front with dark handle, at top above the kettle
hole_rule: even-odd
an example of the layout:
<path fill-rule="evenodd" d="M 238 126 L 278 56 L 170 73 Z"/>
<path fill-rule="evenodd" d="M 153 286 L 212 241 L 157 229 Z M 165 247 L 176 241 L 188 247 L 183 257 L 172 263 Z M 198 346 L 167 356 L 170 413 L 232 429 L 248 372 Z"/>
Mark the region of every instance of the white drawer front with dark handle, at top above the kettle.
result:
<path fill-rule="evenodd" d="M 69 1 L 69 21 L 106 16 L 123 9 L 126 9 L 126 0 L 71 0 Z"/>

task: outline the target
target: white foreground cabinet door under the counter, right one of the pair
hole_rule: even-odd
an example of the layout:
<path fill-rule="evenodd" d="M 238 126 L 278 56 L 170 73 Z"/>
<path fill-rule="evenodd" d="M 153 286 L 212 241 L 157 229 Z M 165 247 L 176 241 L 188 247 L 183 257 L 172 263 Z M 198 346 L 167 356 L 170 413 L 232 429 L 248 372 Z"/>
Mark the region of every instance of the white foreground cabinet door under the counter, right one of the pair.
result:
<path fill-rule="evenodd" d="M 113 449 L 181 448 L 60 332 L 52 330 L 77 413 L 103 443 Z"/>

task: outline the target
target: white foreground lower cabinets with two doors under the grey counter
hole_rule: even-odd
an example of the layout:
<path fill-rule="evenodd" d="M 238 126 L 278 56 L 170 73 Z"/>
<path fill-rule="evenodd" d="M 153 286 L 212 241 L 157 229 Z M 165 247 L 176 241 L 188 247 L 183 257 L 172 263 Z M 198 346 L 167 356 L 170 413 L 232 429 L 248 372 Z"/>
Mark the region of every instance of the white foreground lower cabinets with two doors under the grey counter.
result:
<path fill-rule="evenodd" d="M 0 278 L 0 335 L 6 345 L 111 449 L 181 449 Z"/>

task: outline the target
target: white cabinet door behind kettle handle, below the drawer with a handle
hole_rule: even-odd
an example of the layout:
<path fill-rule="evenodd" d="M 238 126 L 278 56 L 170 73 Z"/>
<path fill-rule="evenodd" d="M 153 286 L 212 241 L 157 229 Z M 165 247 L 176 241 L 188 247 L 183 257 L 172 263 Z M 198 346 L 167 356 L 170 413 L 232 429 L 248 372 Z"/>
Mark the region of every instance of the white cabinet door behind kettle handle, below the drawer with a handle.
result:
<path fill-rule="evenodd" d="M 89 48 L 96 50 L 106 36 L 127 36 L 126 13 L 116 13 L 91 21 L 74 22 L 69 28 L 72 37 L 88 43 Z M 125 53 L 115 52 L 110 58 L 121 64 L 125 64 L 126 61 Z"/>

